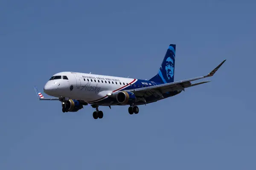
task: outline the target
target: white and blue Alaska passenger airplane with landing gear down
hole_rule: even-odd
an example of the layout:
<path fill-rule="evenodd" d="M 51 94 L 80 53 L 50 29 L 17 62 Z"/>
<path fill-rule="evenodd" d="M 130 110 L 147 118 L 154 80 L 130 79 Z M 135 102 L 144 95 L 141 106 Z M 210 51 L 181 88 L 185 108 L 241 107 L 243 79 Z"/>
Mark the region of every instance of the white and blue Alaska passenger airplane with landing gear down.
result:
<path fill-rule="evenodd" d="M 192 79 L 174 82 L 176 45 L 170 44 L 158 73 L 149 80 L 113 77 L 79 72 L 59 72 L 54 74 L 44 85 L 44 93 L 55 98 L 44 98 L 36 86 L 34 89 L 39 100 L 61 101 L 62 112 L 77 112 L 84 105 L 91 105 L 96 111 L 94 119 L 102 119 L 99 106 L 129 105 L 128 113 L 139 113 L 138 105 L 157 102 L 180 94 L 195 85 L 192 81 L 212 77 L 226 59 L 209 74 Z"/>

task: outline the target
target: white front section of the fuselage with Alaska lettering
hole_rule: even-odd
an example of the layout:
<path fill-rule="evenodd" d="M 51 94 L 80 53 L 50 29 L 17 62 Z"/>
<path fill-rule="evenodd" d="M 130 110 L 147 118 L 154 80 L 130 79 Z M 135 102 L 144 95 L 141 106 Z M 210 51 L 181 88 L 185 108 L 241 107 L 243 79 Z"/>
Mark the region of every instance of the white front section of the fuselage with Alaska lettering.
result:
<path fill-rule="evenodd" d="M 123 77 L 60 72 L 45 84 L 44 92 L 58 98 L 69 97 L 90 103 L 104 99 L 108 93 L 120 91 L 136 81 L 137 79 Z"/>

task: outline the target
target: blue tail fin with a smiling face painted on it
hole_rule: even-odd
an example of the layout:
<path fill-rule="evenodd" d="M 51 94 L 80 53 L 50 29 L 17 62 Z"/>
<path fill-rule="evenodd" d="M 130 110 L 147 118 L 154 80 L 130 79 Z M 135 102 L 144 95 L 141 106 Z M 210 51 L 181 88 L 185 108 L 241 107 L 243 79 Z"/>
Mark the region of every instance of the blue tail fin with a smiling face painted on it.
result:
<path fill-rule="evenodd" d="M 170 44 L 157 75 L 149 79 L 149 81 L 160 83 L 174 81 L 175 50 L 176 45 Z"/>

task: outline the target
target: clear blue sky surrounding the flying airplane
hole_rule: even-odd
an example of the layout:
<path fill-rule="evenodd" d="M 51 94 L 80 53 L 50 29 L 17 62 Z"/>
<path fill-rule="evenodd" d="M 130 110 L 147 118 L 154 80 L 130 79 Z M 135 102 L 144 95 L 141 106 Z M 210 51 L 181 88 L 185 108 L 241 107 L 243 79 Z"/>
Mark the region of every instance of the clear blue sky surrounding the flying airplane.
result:
<path fill-rule="evenodd" d="M 256 169 L 253 0 L 0 1 L 0 169 Z M 149 79 L 176 44 L 175 81 L 204 85 L 159 102 L 62 113 L 38 101 L 55 73 Z"/>

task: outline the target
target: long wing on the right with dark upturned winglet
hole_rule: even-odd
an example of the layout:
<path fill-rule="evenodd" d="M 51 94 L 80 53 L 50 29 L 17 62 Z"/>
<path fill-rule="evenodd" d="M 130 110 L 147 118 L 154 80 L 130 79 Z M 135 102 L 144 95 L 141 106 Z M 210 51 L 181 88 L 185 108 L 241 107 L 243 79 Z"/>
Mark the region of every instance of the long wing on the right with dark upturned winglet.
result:
<path fill-rule="evenodd" d="M 201 85 L 210 81 L 204 81 L 204 82 L 198 82 L 192 84 L 192 81 L 198 80 L 198 79 L 203 79 L 206 77 L 211 77 L 215 74 L 215 72 L 223 65 L 223 63 L 226 61 L 226 59 L 221 62 L 215 69 L 213 69 L 209 74 L 206 76 L 201 76 L 201 77 L 195 77 L 192 79 L 186 79 L 178 82 L 171 82 L 171 83 L 166 83 L 162 85 L 155 85 L 151 87 L 145 87 L 145 88 L 138 88 L 138 89 L 133 89 L 130 90 L 132 91 L 135 96 L 144 96 L 144 95 L 152 95 L 153 94 L 158 94 L 159 96 L 162 96 L 162 94 L 169 92 L 169 91 L 175 91 L 175 90 L 183 90 L 185 91 L 185 88 L 189 88 L 195 85 Z M 149 92 L 149 93 L 148 93 Z M 150 93 L 152 92 L 152 93 Z M 163 96 L 162 96 L 163 97 Z"/>

